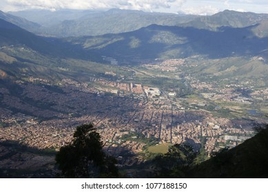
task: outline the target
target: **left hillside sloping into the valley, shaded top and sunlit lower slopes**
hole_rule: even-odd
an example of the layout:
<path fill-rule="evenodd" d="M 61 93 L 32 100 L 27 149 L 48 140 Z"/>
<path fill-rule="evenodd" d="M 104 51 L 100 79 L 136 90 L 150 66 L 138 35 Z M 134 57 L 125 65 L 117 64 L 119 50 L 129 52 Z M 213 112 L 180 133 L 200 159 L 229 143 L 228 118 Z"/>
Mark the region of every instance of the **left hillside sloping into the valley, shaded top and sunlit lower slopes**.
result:
<path fill-rule="evenodd" d="M 72 59 L 75 60 L 74 64 L 68 62 Z M 82 59 L 101 60 L 81 47 L 59 39 L 37 36 L 0 19 L 0 77 L 20 79 L 34 76 L 56 80 L 76 75 L 83 68 L 77 69 L 76 62 Z"/>

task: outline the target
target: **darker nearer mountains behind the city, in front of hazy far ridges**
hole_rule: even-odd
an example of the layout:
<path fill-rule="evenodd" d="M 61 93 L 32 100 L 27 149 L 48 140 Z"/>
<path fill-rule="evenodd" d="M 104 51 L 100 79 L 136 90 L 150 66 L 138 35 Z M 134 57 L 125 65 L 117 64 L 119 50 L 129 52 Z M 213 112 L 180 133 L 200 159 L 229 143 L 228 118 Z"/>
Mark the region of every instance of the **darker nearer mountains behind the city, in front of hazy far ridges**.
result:
<path fill-rule="evenodd" d="M 65 66 L 61 58 L 103 62 L 101 56 L 110 56 L 119 64 L 136 65 L 156 58 L 200 56 L 212 61 L 198 63 L 189 73 L 265 77 L 268 38 L 263 34 L 264 37 L 255 35 L 255 32 L 265 32 L 265 22 L 243 28 L 221 27 L 217 32 L 194 27 L 150 25 L 122 34 L 57 39 L 34 35 L 0 20 L 0 61 L 27 61 L 51 68 Z M 32 67 L 28 66 L 28 69 Z M 4 72 L 10 70 L 12 68 L 5 67 Z"/>

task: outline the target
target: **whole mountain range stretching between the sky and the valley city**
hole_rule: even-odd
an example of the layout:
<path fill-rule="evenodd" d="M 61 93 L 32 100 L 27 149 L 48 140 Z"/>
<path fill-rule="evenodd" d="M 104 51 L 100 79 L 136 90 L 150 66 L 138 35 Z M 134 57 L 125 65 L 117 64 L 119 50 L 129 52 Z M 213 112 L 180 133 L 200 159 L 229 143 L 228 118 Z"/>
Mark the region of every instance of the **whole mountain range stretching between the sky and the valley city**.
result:
<path fill-rule="evenodd" d="M 68 13 L 68 11 L 65 12 Z M 143 25 L 140 25 L 141 28 L 131 32 L 99 36 L 76 36 L 75 32 L 70 31 L 70 34 L 66 35 L 73 37 L 52 38 L 38 36 L 38 32 L 33 34 L 25 30 L 27 28 L 25 26 L 30 24 L 41 29 L 42 26 L 40 27 L 39 24 L 35 25 L 18 16 L 1 12 L 4 20 L 0 20 L 0 61 L 27 61 L 34 64 L 42 63 L 43 67 L 59 67 L 65 66 L 59 62 L 63 58 L 104 62 L 102 56 L 112 57 L 118 60 L 119 64 L 132 65 L 156 58 L 170 59 L 190 56 L 202 56 L 209 59 L 242 57 L 248 58 L 248 60 L 257 56 L 262 62 L 266 62 L 268 59 L 268 14 L 241 13 L 229 10 L 212 16 L 158 14 L 129 10 L 75 13 L 73 12 L 70 16 L 74 20 L 63 21 L 63 23 L 73 23 L 74 21 L 83 23 L 91 18 L 95 20 L 95 23 L 99 23 L 101 26 L 99 30 L 103 30 L 103 32 L 112 30 L 110 25 L 103 25 L 105 22 L 118 23 L 114 29 L 127 31 L 129 29 L 122 29 L 122 26 L 125 26 L 124 22 L 134 26 L 133 23 L 139 23 L 139 19 L 143 18 L 144 20 L 140 23 L 148 26 L 141 27 Z M 77 19 L 76 17 L 81 16 L 81 14 L 85 15 Z M 63 16 L 64 14 L 61 12 L 58 15 Z M 153 19 L 156 15 L 158 15 L 157 19 Z M 121 20 L 118 20 L 119 18 Z M 104 23 L 100 22 L 100 19 L 103 19 Z M 171 26 L 155 24 L 160 21 L 165 21 L 164 24 L 170 21 L 169 25 Z M 22 29 L 14 23 L 30 24 L 24 25 Z M 154 24 L 149 25 L 151 23 Z M 58 28 L 55 26 L 55 30 L 61 28 L 60 26 Z M 70 28 L 86 32 L 81 26 L 88 27 L 83 23 L 76 27 L 70 25 Z M 137 25 L 135 26 L 134 28 L 138 28 Z M 98 26 L 95 27 L 97 34 Z M 64 27 L 62 29 L 68 32 Z M 25 50 L 28 52 L 25 53 Z M 57 62 L 55 62 L 55 58 L 58 60 Z M 244 63 L 240 67 L 247 69 L 245 70 L 247 72 L 250 71 L 249 69 L 257 68 L 256 71 L 266 73 L 267 64 L 256 65 L 254 63 Z M 249 66 L 245 67 L 247 64 Z M 75 67 L 72 68 L 75 69 Z M 211 71 L 207 67 L 206 70 Z"/>

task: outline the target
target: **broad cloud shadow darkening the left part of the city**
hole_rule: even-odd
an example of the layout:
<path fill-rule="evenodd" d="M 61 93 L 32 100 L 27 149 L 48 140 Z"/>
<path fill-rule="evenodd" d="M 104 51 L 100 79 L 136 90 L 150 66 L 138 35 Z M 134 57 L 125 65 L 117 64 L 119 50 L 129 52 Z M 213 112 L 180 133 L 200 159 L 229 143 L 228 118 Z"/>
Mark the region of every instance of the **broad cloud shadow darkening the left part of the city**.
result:
<path fill-rule="evenodd" d="M 41 88 L 43 93 L 48 94 L 47 99 L 42 99 L 43 97 L 35 97 L 32 99 L 30 94 L 24 95 L 23 90 L 30 87 L 32 88 L 32 93 Z M 20 105 L 14 105 L 5 102 L 5 99 L 3 99 L 0 100 L 0 107 L 12 110 L 12 112 L 21 112 L 25 115 L 41 118 L 42 121 L 53 119 L 55 117 L 68 119 L 70 114 L 72 117 L 90 115 L 91 117 L 98 117 L 100 120 L 96 123 L 101 125 L 101 121 L 103 121 L 106 117 L 112 119 L 115 117 L 114 114 L 118 114 L 122 116 L 121 119 L 123 121 L 123 119 L 130 118 L 130 112 L 140 112 L 143 109 L 138 106 L 139 101 L 137 99 L 114 97 L 108 94 L 85 94 L 83 91 L 79 91 L 75 87 L 74 89 L 69 87 L 69 90 L 75 91 L 75 97 L 72 95 L 72 91 L 65 92 L 65 89 L 60 86 L 38 85 L 31 83 L 21 85 L 10 80 L 0 80 L 0 88 L 6 88 L 9 91 L 7 94 L 0 94 L 0 98 L 12 97 L 21 102 Z M 56 98 L 66 99 L 64 107 L 61 106 L 61 102 L 59 102 L 59 99 Z M 110 112 L 111 110 L 113 112 Z M 69 125 L 77 125 L 75 121 L 67 121 Z"/>

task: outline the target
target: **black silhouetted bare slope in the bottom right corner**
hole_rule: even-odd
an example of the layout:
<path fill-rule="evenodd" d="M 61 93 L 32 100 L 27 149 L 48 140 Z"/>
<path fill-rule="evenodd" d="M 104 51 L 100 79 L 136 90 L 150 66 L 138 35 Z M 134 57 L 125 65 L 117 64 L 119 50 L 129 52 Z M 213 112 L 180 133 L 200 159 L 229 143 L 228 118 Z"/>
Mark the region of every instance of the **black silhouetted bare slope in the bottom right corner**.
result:
<path fill-rule="evenodd" d="M 244 143 L 196 165 L 190 178 L 267 178 L 268 129 Z"/>

